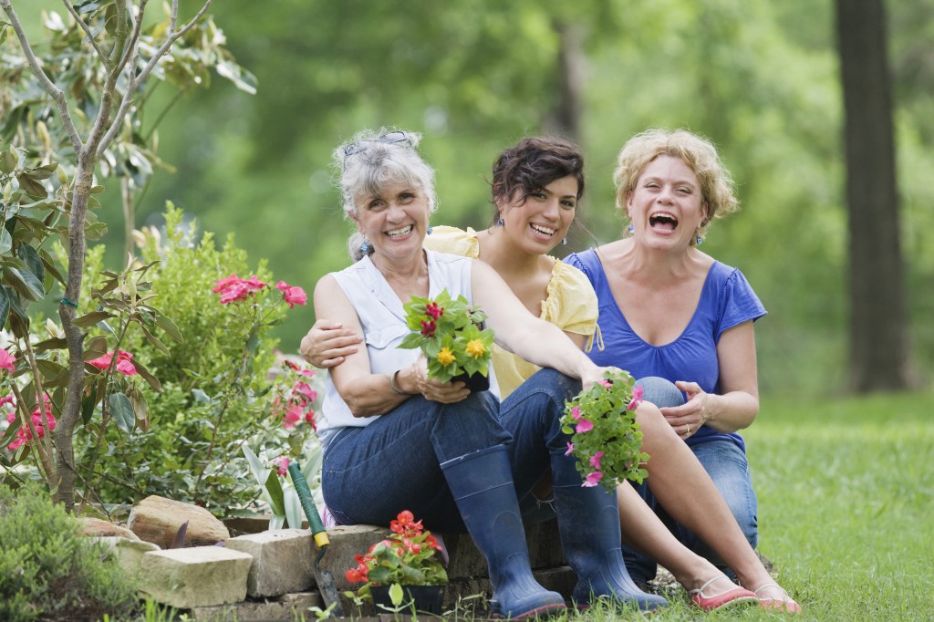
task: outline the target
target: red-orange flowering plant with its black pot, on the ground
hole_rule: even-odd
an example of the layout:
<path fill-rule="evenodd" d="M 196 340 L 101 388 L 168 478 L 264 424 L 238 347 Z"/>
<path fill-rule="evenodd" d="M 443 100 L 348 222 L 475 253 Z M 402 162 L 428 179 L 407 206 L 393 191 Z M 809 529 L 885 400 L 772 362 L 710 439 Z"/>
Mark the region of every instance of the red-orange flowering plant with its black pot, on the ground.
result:
<path fill-rule="evenodd" d="M 347 598 L 373 601 L 376 605 L 398 611 L 413 606 L 417 611 L 441 615 L 447 573 L 436 555 L 441 544 L 421 521 L 403 510 L 389 523 L 392 533 L 367 551 L 357 555 L 356 568 L 345 573 L 347 582 L 362 583 Z"/>

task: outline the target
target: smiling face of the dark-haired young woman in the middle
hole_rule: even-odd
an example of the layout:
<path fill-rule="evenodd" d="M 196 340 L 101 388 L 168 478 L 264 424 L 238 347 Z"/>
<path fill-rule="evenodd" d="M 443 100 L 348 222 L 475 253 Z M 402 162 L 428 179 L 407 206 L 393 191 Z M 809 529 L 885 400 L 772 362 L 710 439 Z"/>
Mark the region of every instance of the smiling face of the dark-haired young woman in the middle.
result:
<path fill-rule="evenodd" d="M 543 255 L 568 233 L 577 208 L 577 179 L 561 177 L 532 191 L 525 201 L 519 191 L 508 205 L 498 205 L 503 231 L 517 247 Z"/>

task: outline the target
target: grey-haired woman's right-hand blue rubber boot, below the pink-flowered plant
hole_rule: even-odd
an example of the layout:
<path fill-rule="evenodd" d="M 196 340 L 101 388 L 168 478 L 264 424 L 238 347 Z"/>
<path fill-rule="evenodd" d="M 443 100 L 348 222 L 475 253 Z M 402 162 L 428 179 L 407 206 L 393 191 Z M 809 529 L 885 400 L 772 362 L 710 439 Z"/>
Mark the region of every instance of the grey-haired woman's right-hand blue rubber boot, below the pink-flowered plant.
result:
<path fill-rule="evenodd" d="M 668 601 L 636 587 L 620 550 L 619 509 L 616 495 L 601 486 L 584 488 L 576 459 L 551 457 L 552 486 L 564 557 L 577 572 L 573 601 L 580 609 L 591 600 L 609 597 L 621 605 L 636 604 L 654 611 Z"/>

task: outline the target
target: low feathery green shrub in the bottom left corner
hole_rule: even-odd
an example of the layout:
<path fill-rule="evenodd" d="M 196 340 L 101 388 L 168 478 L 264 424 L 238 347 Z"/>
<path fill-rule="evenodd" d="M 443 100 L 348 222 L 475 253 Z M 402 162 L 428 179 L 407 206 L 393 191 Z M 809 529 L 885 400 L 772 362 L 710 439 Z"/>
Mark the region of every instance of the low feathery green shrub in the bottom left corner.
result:
<path fill-rule="evenodd" d="M 134 609 L 131 581 L 77 530 L 78 522 L 37 486 L 0 486 L 0 618 L 123 619 Z"/>

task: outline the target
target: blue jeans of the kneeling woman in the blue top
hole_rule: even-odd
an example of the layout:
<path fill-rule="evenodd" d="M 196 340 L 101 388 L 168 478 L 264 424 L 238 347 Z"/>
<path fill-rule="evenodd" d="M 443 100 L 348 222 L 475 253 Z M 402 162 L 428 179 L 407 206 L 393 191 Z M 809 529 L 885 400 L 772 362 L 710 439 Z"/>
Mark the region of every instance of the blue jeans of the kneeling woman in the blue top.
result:
<path fill-rule="evenodd" d="M 671 382 L 658 377 L 640 379 L 637 384 L 644 389 L 643 399 L 656 404 L 659 408 L 666 406 L 679 406 L 685 403 L 684 395 Z M 704 470 L 714 480 L 720 496 L 727 503 L 729 511 L 736 518 L 743 535 L 749 544 L 756 548 L 758 544 L 757 501 L 753 490 L 752 479 L 749 474 L 749 461 L 743 450 L 735 443 L 723 439 L 710 441 L 691 446 L 691 451 L 701 461 Z M 709 559 L 715 566 L 723 570 L 730 577 L 726 563 L 691 530 L 675 522 L 665 512 L 652 491 L 648 488 L 648 480 L 641 485 L 632 484 L 633 488 L 642 495 L 645 502 L 651 507 L 663 523 L 672 531 L 674 536 L 687 548 L 703 558 Z M 644 556 L 623 544 L 623 558 L 633 580 L 647 583 L 655 578 L 658 565 L 654 560 Z"/>

